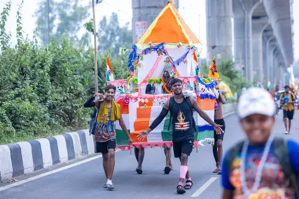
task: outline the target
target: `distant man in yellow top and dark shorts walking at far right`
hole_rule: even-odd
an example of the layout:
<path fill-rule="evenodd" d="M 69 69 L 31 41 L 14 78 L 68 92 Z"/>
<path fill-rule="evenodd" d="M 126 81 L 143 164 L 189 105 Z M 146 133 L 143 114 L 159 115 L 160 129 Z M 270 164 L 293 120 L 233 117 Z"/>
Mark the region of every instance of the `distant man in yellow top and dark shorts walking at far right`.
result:
<path fill-rule="evenodd" d="M 281 95 L 281 103 L 284 104 L 284 122 L 286 127 L 286 133 L 291 133 L 291 120 L 294 116 L 294 103 L 295 95 L 291 92 L 291 88 L 289 86 L 285 86 L 285 93 Z M 288 119 L 289 119 L 289 129 L 288 129 Z"/>

